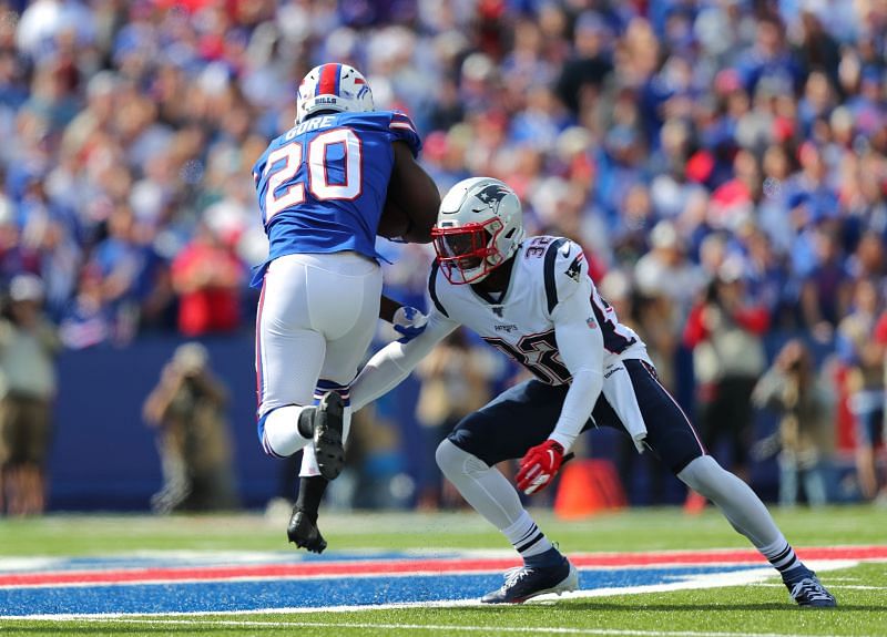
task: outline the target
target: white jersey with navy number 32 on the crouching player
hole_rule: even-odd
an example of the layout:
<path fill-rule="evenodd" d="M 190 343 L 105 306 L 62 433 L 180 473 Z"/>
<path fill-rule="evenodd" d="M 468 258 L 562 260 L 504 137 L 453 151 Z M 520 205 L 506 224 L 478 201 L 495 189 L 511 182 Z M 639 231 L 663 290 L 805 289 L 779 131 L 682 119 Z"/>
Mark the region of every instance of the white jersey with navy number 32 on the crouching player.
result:
<path fill-rule="evenodd" d="M 571 374 L 554 339 L 551 314 L 560 299 L 581 287 L 583 279 L 591 285 L 594 316 L 582 319 L 601 328 L 604 369 L 618 359 L 649 360 L 641 338 L 619 322 L 613 308 L 598 294 L 588 269 L 582 248 L 573 242 L 563 237 L 531 237 L 514 255 L 511 281 L 502 298 L 479 292 L 471 285 L 450 284 L 437 263 L 431 269 L 428 291 L 440 314 L 477 332 L 539 380 L 564 384 L 570 382 Z"/>

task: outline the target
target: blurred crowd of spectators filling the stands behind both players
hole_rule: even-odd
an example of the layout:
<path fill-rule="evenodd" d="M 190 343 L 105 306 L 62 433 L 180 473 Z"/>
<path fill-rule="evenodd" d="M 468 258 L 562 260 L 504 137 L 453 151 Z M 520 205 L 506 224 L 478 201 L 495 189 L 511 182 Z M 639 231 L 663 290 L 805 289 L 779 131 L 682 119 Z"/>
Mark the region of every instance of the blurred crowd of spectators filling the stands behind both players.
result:
<path fill-rule="evenodd" d="M 442 192 L 502 178 L 532 233 L 585 247 L 736 466 L 771 360 L 808 357 L 873 499 L 886 49 L 884 0 L 0 0 L 0 281 L 38 276 L 72 349 L 248 330 L 252 165 L 299 79 L 346 62 L 415 120 Z M 428 250 L 381 249 L 392 296 L 424 302 Z M 777 332 L 817 356 L 774 359 Z M 452 415 L 429 404 L 431 429 Z"/>

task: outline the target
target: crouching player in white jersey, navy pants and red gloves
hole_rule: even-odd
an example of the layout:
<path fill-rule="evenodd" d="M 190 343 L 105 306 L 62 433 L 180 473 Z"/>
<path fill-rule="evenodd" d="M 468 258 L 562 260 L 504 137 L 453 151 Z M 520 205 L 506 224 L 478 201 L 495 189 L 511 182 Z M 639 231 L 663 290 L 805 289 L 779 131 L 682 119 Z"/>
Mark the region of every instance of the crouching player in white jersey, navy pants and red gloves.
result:
<path fill-rule="evenodd" d="M 757 495 L 706 453 L 659 382 L 644 343 L 598 294 L 577 244 L 524 238 L 517 195 L 487 177 L 450 189 L 431 234 L 437 259 L 429 278 L 428 326 L 410 342 L 391 343 L 369 360 L 351 386 L 351 403 L 360 409 L 392 389 L 460 325 L 536 377 L 466 417 L 437 450 L 443 474 L 524 562 L 482 602 L 521 603 L 578 586 L 575 569 L 536 525 L 496 463 L 522 459 L 516 482 L 531 494 L 551 483 L 582 431 L 610 425 L 624 429 L 639 451 L 649 450 L 712 500 L 779 571 L 799 605 L 835 606 Z"/>

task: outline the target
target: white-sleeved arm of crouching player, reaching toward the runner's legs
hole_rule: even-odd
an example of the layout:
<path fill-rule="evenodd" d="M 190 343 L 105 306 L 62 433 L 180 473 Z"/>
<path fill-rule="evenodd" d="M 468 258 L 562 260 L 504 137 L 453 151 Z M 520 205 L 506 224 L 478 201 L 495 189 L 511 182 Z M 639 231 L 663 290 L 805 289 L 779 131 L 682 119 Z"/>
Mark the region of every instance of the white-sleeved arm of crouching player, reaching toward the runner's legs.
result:
<path fill-rule="evenodd" d="M 409 342 L 392 342 L 377 351 L 351 383 L 351 405 L 357 411 L 385 395 L 419 364 L 459 323 L 437 310 L 428 315 L 425 331 Z"/>

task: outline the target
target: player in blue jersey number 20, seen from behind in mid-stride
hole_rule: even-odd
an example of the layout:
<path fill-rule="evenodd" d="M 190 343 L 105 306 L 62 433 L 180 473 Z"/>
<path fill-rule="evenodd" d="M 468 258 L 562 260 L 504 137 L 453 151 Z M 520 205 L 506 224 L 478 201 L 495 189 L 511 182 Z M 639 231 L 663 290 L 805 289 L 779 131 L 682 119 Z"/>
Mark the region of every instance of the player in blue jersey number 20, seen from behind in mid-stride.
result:
<path fill-rule="evenodd" d="M 381 298 L 375 248 L 387 206 L 406 219 L 402 240 L 428 243 L 440 194 L 417 163 L 421 141 L 404 113 L 374 111 L 366 79 L 346 64 L 305 75 L 295 125 L 253 168 L 268 236 L 256 268 L 258 438 L 265 453 L 304 449 L 290 542 L 322 552 L 317 510 L 341 471 L 348 435 L 348 387 L 373 339 L 377 317 L 406 338 L 425 317 Z M 406 213 L 406 215 L 405 215 Z M 394 230 L 391 230 L 394 232 Z"/>

